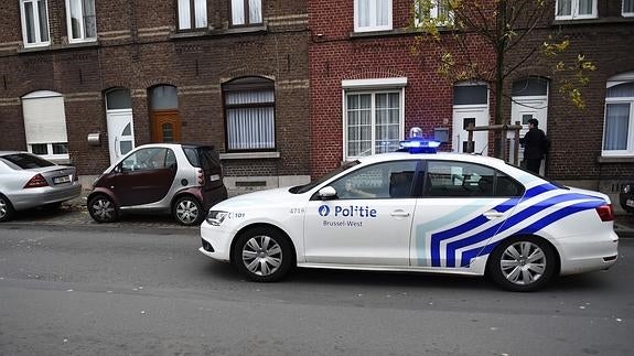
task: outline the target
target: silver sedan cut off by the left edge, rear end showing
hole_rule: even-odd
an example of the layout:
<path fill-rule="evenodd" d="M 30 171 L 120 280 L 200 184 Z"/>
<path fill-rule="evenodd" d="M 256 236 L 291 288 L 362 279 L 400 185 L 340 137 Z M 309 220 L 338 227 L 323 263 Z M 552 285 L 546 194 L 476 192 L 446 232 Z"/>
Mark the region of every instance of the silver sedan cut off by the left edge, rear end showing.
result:
<path fill-rule="evenodd" d="M 80 193 L 74 166 L 58 165 L 29 152 L 0 151 L 0 222 L 20 211 L 58 207 Z"/>

